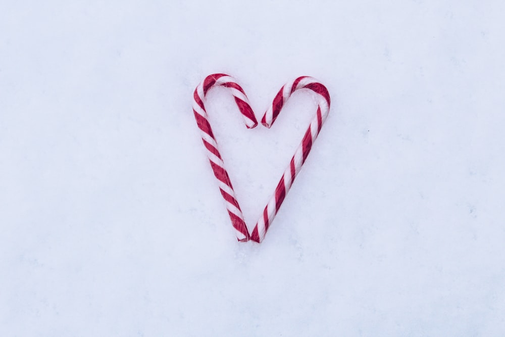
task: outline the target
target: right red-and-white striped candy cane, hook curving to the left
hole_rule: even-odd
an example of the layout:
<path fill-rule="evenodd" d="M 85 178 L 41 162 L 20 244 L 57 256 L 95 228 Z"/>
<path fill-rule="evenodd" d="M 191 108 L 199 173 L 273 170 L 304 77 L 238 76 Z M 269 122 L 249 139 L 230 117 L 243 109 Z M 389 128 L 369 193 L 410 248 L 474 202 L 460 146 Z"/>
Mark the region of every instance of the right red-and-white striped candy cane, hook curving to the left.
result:
<path fill-rule="evenodd" d="M 307 132 L 305 132 L 304 138 L 301 140 L 300 145 L 296 149 L 294 156 L 291 158 L 289 166 L 282 174 L 282 177 L 275 188 L 274 195 L 270 198 L 267 206 L 263 211 L 263 215 L 260 217 L 254 230 L 250 235 L 250 239 L 256 241 L 257 243 L 262 242 L 265 238 L 265 234 L 272 223 L 275 215 L 279 211 L 279 208 L 287 195 L 287 192 L 293 184 L 294 178 L 304 165 L 307 156 L 309 155 L 312 144 L 316 140 L 319 131 L 321 131 L 321 126 L 323 125 L 326 117 L 328 117 L 328 112 L 330 111 L 330 94 L 328 89 L 319 83 L 318 80 L 308 76 L 301 76 L 295 79 L 293 82 L 288 82 L 277 93 L 274 102 L 269 107 L 265 115 L 261 120 L 261 123 L 270 128 L 274 124 L 279 112 L 286 103 L 286 101 L 291 97 L 293 92 L 299 89 L 310 89 L 316 93 L 315 98 L 317 102 L 316 115 L 311 121 Z"/>

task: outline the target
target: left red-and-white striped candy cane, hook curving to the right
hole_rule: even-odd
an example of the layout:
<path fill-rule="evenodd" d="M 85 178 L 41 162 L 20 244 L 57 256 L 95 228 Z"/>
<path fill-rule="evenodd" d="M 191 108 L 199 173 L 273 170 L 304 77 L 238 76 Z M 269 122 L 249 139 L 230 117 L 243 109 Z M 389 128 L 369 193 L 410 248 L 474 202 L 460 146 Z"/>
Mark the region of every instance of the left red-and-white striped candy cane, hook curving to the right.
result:
<path fill-rule="evenodd" d="M 249 239 L 249 231 L 245 225 L 242 210 L 240 209 L 237 198 L 235 197 L 235 191 L 231 185 L 230 177 L 224 168 L 223 158 L 218 151 L 217 141 L 214 137 L 214 133 L 212 132 L 211 125 L 209 124 L 209 116 L 205 110 L 205 96 L 207 95 L 207 92 L 209 92 L 209 89 L 213 86 L 224 86 L 231 89 L 231 93 L 235 98 L 235 103 L 242 113 L 242 117 L 247 128 L 250 129 L 256 127 L 258 122 L 252 112 L 249 100 L 247 99 L 244 90 L 231 76 L 225 74 L 209 75 L 201 81 L 194 90 L 193 113 L 194 118 L 196 119 L 196 124 L 198 124 L 200 129 L 201 140 L 204 142 L 204 146 L 207 149 L 207 157 L 211 163 L 214 175 L 218 179 L 219 189 L 223 199 L 225 200 L 226 209 L 228 210 L 231 223 L 236 230 L 235 234 L 237 239 L 241 242 L 245 242 Z"/>

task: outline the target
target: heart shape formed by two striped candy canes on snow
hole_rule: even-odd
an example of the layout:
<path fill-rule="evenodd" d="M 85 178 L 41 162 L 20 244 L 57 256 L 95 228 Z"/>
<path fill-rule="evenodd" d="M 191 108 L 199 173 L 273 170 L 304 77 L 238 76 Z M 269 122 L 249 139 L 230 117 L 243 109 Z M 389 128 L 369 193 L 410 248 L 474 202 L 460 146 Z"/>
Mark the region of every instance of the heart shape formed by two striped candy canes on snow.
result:
<path fill-rule="evenodd" d="M 305 160 L 311 151 L 312 144 L 316 140 L 319 131 L 321 131 L 321 126 L 328 116 L 328 112 L 330 110 L 330 94 L 328 93 L 328 89 L 326 89 L 326 87 L 315 78 L 300 76 L 294 81 L 287 82 L 282 86 L 275 96 L 273 103 L 263 115 L 261 123 L 267 128 L 270 128 L 279 116 L 283 105 L 291 97 L 293 92 L 299 89 L 310 89 L 316 93 L 314 95 L 317 102 L 316 114 L 309 124 L 309 128 L 307 129 L 304 138 L 301 140 L 300 145 L 291 158 L 288 167 L 282 174 L 273 196 L 270 198 L 267 206 L 265 206 L 262 216 L 260 216 L 260 219 L 256 223 L 252 233 L 249 234 L 247 225 L 244 221 L 244 216 L 240 210 L 240 206 L 238 205 L 237 198 L 235 197 L 230 177 L 226 172 L 223 159 L 218 151 L 217 141 L 209 123 L 209 116 L 205 110 L 205 97 L 207 92 L 214 86 L 224 86 L 230 89 L 235 99 L 235 103 L 242 114 L 245 126 L 248 129 L 256 127 L 258 125 L 258 121 L 256 120 L 254 112 L 252 112 L 249 100 L 247 99 L 244 90 L 231 76 L 226 74 L 209 75 L 201 81 L 194 90 L 193 113 L 196 119 L 196 124 L 200 129 L 201 139 L 207 149 L 207 157 L 211 163 L 214 175 L 218 180 L 219 189 L 226 202 L 226 209 L 230 216 L 233 228 L 236 230 L 237 239 L 240 242 L 252 240 L 257 243 L 261 243 L 265 238 L 265 234 L 275 215 L 279 211 L 287 192 L 291 188 L 294 178 L 300 171 L 301 166 L 305 163 Z"/>

